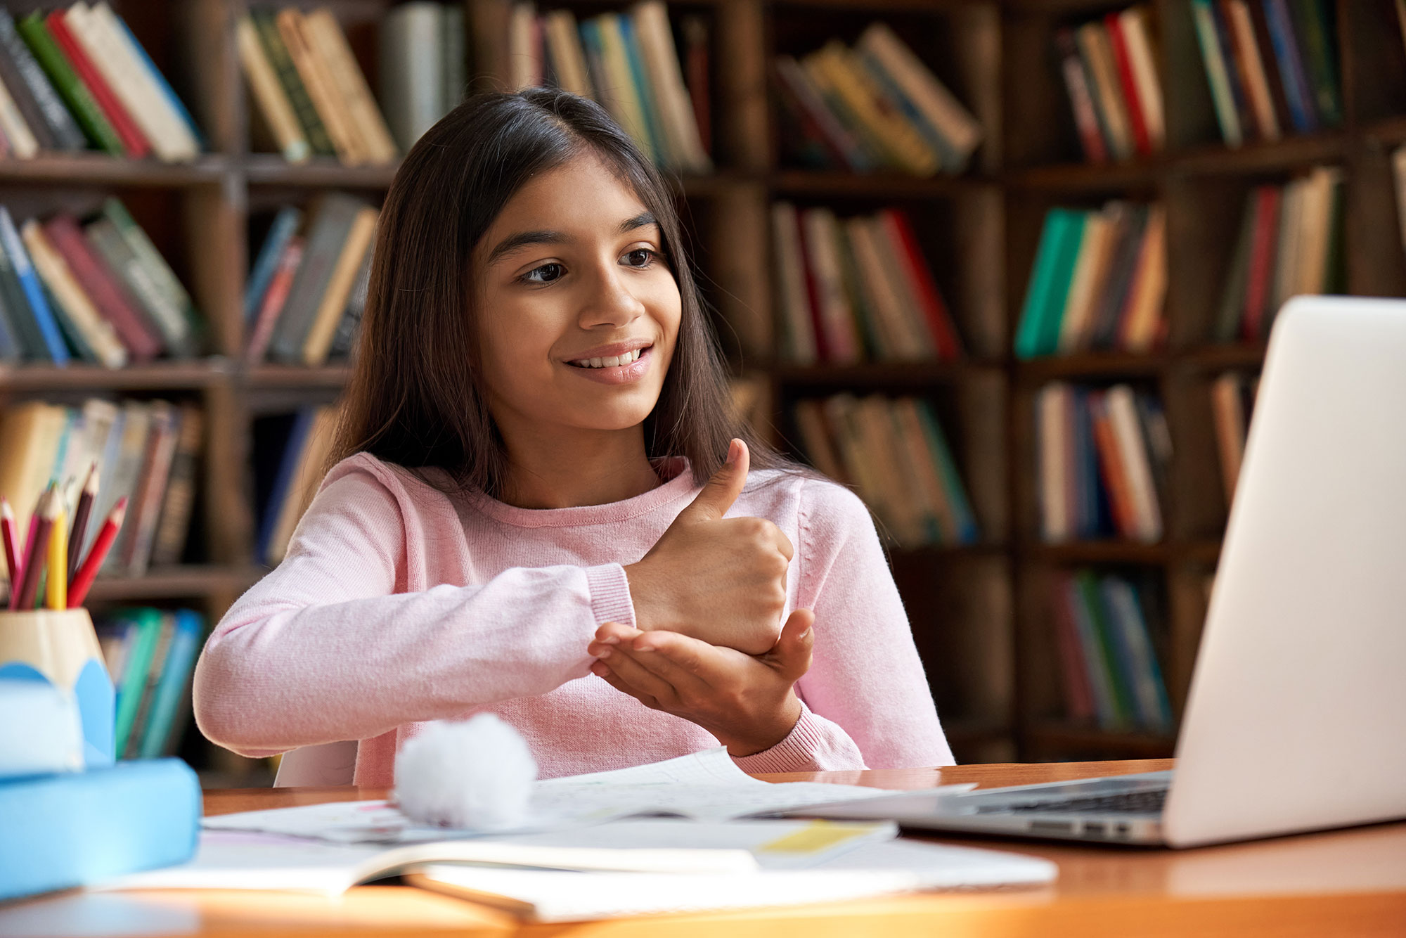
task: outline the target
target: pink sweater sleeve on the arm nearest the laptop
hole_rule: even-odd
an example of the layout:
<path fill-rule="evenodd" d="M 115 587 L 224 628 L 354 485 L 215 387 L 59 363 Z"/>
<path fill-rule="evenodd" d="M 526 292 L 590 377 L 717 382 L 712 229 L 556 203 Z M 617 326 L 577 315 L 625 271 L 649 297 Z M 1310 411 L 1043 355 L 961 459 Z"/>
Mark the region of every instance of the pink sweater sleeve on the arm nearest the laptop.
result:
<path fill-rule="evenodd" d="M 748 772 L 952 765 L 908 616 L 869 509 L 849 489 L 800 492 L 796 608 L 815 612 L 790 735 L 738 759 Z"/>

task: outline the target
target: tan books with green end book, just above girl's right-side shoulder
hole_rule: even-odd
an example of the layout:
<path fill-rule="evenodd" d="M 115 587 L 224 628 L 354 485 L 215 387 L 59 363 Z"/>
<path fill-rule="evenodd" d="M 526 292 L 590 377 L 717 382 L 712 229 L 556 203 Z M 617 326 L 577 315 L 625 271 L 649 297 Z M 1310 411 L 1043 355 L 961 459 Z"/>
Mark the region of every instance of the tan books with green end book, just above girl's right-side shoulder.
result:
<path fill-rule="evenodd" d="M 980 537 L 956 460 L 927 401 L 837 394 L 799 401 L 796 429 L 811 464 L 852 485 L 905 547 Z"/>

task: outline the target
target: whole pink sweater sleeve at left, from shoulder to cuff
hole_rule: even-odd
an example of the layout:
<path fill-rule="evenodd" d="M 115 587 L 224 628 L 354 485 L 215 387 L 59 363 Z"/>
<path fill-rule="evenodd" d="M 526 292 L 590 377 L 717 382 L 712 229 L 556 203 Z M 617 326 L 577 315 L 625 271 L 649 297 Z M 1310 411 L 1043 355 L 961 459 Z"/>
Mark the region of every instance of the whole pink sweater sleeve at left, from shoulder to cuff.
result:
<path fill-rule="evenodd" d="M 277 570 L 215 627 L 194 678 L 201 731 L 257 757 L 366 740 L 588 674 L 605 622 L 634 623 L 619 564 L 512 568 L 406 592 L 406 523 L 364 468 L 329 475 Z"/>

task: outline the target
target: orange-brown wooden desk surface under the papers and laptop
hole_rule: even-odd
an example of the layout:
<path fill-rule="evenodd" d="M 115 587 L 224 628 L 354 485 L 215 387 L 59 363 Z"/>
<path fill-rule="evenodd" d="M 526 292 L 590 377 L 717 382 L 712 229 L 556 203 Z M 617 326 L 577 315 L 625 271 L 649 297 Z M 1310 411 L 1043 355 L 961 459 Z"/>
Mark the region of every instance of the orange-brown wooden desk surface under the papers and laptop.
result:
<path fill-rule="evenodd" d="M 1149 772 L 1168 759 L 1050 765 L 966 765 L 770 775 L 882 788 L 955 782 L 983 786 Z M 378 799 L 374 789 L 208 792 L 205 811 Z M 1211 847 L 1152 851 L 941 838 L 1047 856 L 1054 886 L 925 894 L 775 911 L 522 925 L 447 896 L 406 886 L 363 886 L 337 899 L 284 893 L 66 893 L 0 906 L 0 935 L 465 935 L 471 938 L 903 938 L 905 935 L 1406 935 L 1406 823 Z"/>

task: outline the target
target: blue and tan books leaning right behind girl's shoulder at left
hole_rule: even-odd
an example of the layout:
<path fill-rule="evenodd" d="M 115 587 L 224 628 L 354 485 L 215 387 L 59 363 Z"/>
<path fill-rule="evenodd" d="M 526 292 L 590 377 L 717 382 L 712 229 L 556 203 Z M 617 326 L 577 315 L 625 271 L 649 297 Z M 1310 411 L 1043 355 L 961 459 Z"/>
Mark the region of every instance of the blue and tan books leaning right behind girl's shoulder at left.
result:
<path fill-rule="evenodd" d="M 312 503 L 336 432 L 335 406 L 308 406 L 254 420 L 254 555 L 277 567 Z"/>

